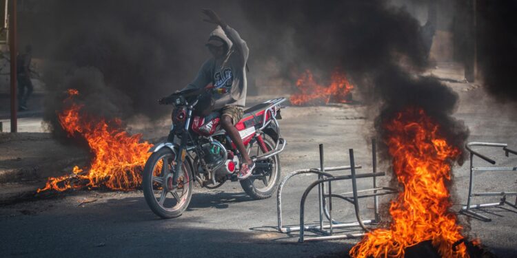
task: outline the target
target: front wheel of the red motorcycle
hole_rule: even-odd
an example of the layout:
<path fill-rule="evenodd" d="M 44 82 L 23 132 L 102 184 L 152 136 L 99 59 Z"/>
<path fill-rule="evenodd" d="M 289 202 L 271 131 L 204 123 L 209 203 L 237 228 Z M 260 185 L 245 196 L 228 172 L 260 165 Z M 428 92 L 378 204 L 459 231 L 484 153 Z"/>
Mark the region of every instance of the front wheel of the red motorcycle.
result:
<path fill-rule="evenodd" d="M 154 214 L 164 219 L 179 217 L 192 197 L 192 171 L 183 162 L 178 176 L 178 187 L 172 188 L 176 156 L 165 147 L 152 153 L 143 169 L 142 188 L 145 202 Z"/>

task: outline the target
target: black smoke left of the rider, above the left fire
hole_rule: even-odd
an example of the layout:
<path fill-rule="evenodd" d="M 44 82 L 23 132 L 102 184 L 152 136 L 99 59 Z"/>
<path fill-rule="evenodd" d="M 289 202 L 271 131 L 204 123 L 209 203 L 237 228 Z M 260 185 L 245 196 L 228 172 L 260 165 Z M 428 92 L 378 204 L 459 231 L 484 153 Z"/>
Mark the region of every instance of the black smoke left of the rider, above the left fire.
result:
<path fill-rule="evenodd" d="M 169 110 L 156 100 L 190 83 L 210 55 L 204 44 L 215 26 L 202 21 L 201 8 L 232 24 L 235 2 L 26 1 L 20 41 L 47 61 L 44 118 L 52 131 L 62 134 L 56 114 L 68 88 L 79 89 L 76 99 L 89 114 L 163 118 Z"/>

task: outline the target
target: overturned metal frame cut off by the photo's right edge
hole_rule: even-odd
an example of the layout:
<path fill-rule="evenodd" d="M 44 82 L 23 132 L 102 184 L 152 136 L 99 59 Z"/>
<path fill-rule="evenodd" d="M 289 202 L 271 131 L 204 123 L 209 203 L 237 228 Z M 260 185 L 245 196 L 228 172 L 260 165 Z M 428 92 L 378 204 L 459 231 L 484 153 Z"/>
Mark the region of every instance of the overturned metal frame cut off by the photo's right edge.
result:
<path fill-rule="evenodd" d="M 491 142 L 469 142 L 467 143 L 467 146 L 465 147 L 470 152 L 470 178 L 469 178 L 469 195 L 467 196 L 467 205 L 463 206 L 460 210 L 460 213 L 463 213 L 465 215 L 472 216 L 477 219 L 481 219 L 485 222 L 490 222 L 491 219 L 489 217 L 485 217 L 483 215 L 480 215 L 479 213 L 476 213 L 472 210 L 479 209 L 479 208 L 488 208 L 488 207 L 496 207 L 496 206 L 503 206 L 504 204 L 507 204 L 511 206 L 512 208 L 517 209 L 517 192 L 512 191 L 499 191 L 499 192 L 489 192 L 489 193 L 473 193 L 474 190 L 474 173 L 475 172 L 503 172 L 503 171 L 515 171 L 517 172 L 517 166 L 486 166 L 486 167 L 480 167 L 480 166 L 474 166 L 474 156 L 477 156 L 478 158 L 485 160 L 486 162 L 489 162 L 490 164 L 496 164 L 495 160 L 492 160 L 491 158 L 488 158 L 486 155 L 483 155 L 481 153 L 478 153 L 477 151 L 474 151 L 472 147 L 497 147 L 502 148 L 503 151 L 505 151 L 505 155 L 508 157 L 509 154 L 517 155 L 517 151 L 508 149 L 508 144 L 505 143 L 491 143 Z M 481 196 L 503 196 L 500 199 L 500 202 L 494 202 L 489 204 L 472 204 L 472 197 L 481 197 Z M 516 200 L 514 204 L 511 204 L 508 202 L 507 196 L 516 196 Z"/>

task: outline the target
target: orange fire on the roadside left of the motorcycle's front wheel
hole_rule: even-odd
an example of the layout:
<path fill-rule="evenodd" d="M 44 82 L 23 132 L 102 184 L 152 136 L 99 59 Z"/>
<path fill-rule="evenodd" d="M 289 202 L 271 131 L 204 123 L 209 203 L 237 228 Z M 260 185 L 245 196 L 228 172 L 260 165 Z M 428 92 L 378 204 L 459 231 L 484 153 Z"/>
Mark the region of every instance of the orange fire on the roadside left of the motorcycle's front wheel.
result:
<path fill-rule="evenodd" d="M 68 89 L 70 107 L 58 114 L 61 127 L 68 136 L 81 136 L 90 147 L 94 158 L 88 172 L 75 166 L 72 174 L 58 178 L 48 178 L 43 189 L 38 193 L 54 189 L 81 189 L 106 186 L 116 190 L 135 189 L 142 182 L 141 169 L 149 157 L 148 149 L 152 144 L 140 142 L 141 135 L 129 136 L 120 129 L 121 121 L 108 121 L 104 118 L 92 118 L 80 113 L 82 105 L 73 102 L 79 95 L 77 89 Z"/>

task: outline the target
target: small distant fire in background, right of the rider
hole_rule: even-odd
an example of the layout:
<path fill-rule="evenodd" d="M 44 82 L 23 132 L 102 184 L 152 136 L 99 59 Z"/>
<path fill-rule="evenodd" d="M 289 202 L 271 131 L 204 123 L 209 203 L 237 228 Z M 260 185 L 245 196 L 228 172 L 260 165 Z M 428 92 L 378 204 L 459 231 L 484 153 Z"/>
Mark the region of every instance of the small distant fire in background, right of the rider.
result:
<path fill-rule="evenodd" d="M 350 101 L 350 91 L 354 86 L 349 83 L 347 77 L 339 69 L 332 73 L 330 85 L 320 85 L 314 80 L 310 70 L 305 71 L 296 81 L 296 87 L 300 93 L 291 95 L 293 105 L 304 105 L 307 103 L 325 103 L 330 101 L 347 103 Z"/>

